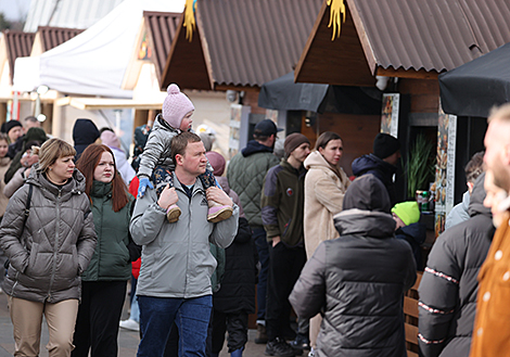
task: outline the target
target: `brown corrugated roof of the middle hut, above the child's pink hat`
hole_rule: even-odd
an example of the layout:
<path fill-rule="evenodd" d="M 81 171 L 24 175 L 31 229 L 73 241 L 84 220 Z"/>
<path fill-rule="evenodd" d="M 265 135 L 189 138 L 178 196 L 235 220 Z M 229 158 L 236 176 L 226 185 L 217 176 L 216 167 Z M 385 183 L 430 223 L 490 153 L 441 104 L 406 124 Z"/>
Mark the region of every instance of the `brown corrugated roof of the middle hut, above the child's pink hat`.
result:
<path fill-rule="evenodd" d="M 321 0 L 197 0 L 193 40 L 179 27 L 162 89 L 260 87 L 293 71 Z"/>

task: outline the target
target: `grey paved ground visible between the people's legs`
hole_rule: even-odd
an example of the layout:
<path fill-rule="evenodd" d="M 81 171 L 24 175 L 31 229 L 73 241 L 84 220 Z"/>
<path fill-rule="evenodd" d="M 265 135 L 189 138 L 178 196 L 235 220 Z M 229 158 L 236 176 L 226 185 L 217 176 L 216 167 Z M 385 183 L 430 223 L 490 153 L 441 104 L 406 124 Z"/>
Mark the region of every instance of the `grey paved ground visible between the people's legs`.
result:
<path fill-rule="evenodd" d="M 123 319 L 127 318 L 127 304 L 125 304 L 125 309 L 123 313 Z M 48 329 L 46 323 L 43 326 L 43 333 L 41 339 L 41 357 L 48 357 L 48 350 L 46 345 L 48 343 Z M 254 357 L 254 356 L 264 356 L 264 350 L 266 345 L 256 345 L 253 341 L 255 339 L 255 330 L 250 330 L 248 332 L 248 343 L 246 344 L 244 357 Z M 137 355 L 137 347 L 139 343 L 138 332 L 131 332 L 120 329 L 118 333 L 118 346 L 119 357 L 135 357 Z M 14 340 L 12 337 L 12 323 L 11 318 L 9 317 L 7 295 L 0 294 L 0 357 L 12 357 L 14 353 Z M 228 357 L 227 346 L 220 353 L 220 357 Z"/>

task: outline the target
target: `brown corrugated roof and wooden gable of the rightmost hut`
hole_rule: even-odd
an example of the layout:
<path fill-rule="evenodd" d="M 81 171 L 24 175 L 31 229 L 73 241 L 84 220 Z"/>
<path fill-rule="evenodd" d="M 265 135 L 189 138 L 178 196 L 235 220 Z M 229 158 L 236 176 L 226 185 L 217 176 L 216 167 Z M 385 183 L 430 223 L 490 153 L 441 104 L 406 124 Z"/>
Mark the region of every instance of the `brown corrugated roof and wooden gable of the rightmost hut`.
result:
<path fill-rule="evenodd" d="M 297 81 L 353 85 L 348 78 L 360 67 L 371 76 L 436 78 L 510 42 L 509 1 L 345 0 L 347 21 L 333 42 L 326 2 L 296 68 Z"/>

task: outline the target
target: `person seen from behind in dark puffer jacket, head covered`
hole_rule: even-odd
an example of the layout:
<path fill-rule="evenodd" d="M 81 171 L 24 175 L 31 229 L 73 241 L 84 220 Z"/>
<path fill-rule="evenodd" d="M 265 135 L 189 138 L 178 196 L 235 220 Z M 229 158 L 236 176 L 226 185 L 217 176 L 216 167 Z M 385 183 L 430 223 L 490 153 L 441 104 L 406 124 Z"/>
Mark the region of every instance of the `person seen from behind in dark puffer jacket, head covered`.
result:
<path fill-rule="evenodd" d="M 302 318 L 323 320 L 316 356 L 407 356 L 403 298 L 416 281 L 408 243 L 394 235 L 390 197 L 373 175 L 356 179 L 334 222 L 341 237 L 322 242 L 290 301 Z"/>

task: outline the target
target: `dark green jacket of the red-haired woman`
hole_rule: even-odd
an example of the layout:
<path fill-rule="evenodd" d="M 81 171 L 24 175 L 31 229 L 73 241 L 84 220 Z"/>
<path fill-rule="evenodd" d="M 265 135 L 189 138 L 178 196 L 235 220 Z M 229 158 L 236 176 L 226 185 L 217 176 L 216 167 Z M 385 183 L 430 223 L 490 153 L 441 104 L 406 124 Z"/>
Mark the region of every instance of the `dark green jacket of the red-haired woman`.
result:
<path fill-rule="evenodd" d="M 128 280 L 131 277 L 128 244 L 132 202 L 130 200 L 119 212 L 114 212 L 112 184 L 95 180 L 90 195 L 98 244 L 81 280 Z"/>

